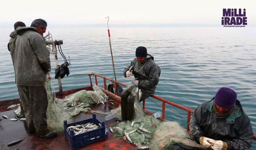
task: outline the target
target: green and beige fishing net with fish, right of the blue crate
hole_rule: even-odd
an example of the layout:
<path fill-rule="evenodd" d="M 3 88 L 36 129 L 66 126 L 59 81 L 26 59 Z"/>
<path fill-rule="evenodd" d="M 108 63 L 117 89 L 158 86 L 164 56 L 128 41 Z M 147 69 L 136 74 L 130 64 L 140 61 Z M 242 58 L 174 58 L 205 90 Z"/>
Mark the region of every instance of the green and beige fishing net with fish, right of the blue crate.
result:
<path fill-rule="evenodd" d="M 114 137 L 123 137 L 141 149 L 165 150 L 168 149 L 170 144 L 175 143 L 201 148 L 199 144 L 192 140 L 186 129 L 182 128 L 177 122 L 161 122 L 157 118 L 145 114 L 139 105 L 140 90 L 137 86 L 131 83 L 126 90 L 129 90 L 135 96 L 134 119 L 114 124 L 110 129 L 115 133 Z M 113 112 L 116 113 L 117 110 L 120 111 L 120 108 L 113 110 Z M 116 116 L 118 115 L 117 113 Z"/>

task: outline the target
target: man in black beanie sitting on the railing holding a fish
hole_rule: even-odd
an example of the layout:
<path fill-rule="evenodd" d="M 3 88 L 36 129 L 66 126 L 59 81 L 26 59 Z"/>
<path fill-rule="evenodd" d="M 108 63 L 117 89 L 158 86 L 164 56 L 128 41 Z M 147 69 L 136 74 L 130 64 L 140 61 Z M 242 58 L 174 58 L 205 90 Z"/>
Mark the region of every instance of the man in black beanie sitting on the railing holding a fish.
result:
<path fill-rule="evenodd" d="M 161 69 L 154 62 L 154 57 L 147 53 L 147 49 L 143 46 L 136 48 L 136 58 L 124 68 L 124 77 L 129 78 L 134 75 L 135 80 L 132 82 L 142 91 L 140 102 L 149 96 L 153 95 L 158 84 Z M 134 69 L 129 71 L 129 68 L 134 66 Z M 121 111 L 122 120 L 132 120 L 134 116 L 134 101 L 135 96 L 129 90 L 124 90 L 121 93 Z"/>

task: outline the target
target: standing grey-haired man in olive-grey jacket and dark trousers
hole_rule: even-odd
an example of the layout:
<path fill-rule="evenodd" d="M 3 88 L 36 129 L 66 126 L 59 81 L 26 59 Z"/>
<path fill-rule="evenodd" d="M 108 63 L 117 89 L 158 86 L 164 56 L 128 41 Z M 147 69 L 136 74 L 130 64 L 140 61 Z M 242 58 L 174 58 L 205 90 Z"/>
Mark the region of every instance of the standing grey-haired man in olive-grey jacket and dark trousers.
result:
<path fill-rule="evenodd" d="M 18 27 L 15 42 L 14 72 L 18 86 L 28 132 L 44 138 L 56 133 L 47 130 L 47 93 L 44 88 L 45 74 L 50 72 L 50 52 L 46 48 L 43 34 L 47 22 L 36 19 L 30 27 Z"/>

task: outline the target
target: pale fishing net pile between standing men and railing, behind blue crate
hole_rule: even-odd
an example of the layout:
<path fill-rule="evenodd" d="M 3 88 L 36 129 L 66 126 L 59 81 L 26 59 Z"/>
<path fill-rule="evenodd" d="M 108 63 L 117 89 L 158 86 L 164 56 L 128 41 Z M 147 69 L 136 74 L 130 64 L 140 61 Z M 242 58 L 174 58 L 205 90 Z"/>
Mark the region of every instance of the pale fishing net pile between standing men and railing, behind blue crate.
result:
<path fill-rule="evenodd" d="M 94 91 L 80 90 L 64 99 L 58 99 L 55 97 L 49 74 L 45 76 L 45 88 L 48 99 L 47 124 L 49 130 L 56 133 L 64 131 L 64 120 L 71 122 L 71 117 L 80 112 L 91 113 L 89 106 L 104 104 L 104 101 L 108 99 L 108 96 L 96 85 L 93 86 Z M 14 112 L 19 114 L 20 107 Z"/>

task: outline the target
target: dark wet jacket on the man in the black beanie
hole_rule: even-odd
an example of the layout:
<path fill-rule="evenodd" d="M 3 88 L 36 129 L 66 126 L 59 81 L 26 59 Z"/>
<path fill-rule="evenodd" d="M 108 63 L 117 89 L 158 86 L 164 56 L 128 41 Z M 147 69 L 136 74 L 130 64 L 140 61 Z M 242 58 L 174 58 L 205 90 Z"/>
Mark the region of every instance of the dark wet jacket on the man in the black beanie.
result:
<path fill-rule="evenodd" d="M 134 77 L 139 80 L 138 88 L 140 88 L 142 93 L 146 92 L 150 95 L 154 95 L 161 73 L 161 69 L 154 62 L 154 57 L 148 54 L 142 64 L 137 61 L 137 58 L 134 58 L 134 60 L 124 68 L 124 77 L 126 77 L 126 72 L 131 66 L 134 66 L 134 70 L 132 71 Z"/>

